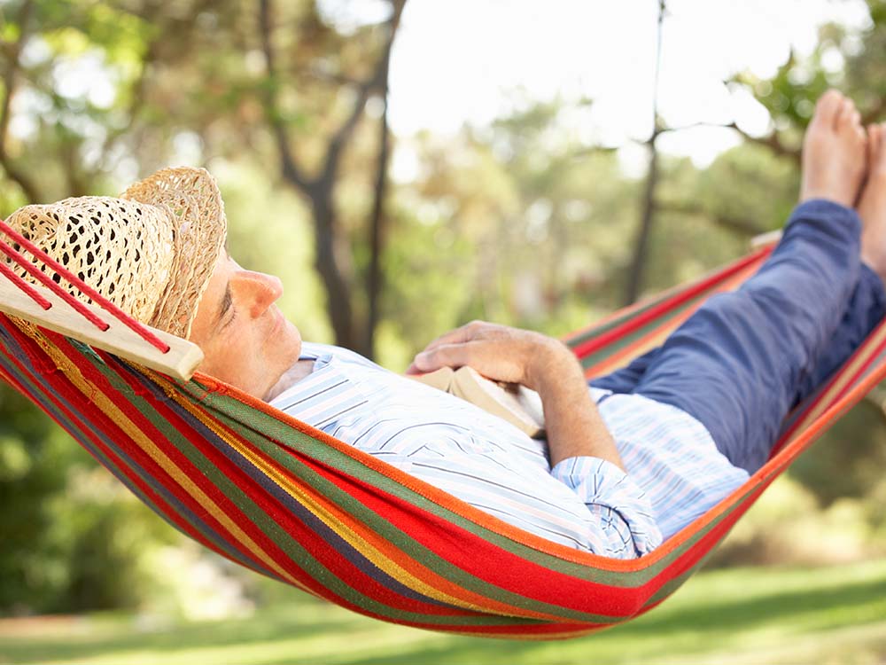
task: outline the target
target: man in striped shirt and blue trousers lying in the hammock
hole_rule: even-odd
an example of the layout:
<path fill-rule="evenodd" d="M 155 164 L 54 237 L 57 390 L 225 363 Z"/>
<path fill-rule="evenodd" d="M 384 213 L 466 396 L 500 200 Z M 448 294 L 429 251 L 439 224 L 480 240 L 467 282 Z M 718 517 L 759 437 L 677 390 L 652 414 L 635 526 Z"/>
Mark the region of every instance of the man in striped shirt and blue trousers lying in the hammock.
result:
<path fill-rule="evenodd" d="M 801 203 L 780 246 L 741 290 L 712 298 L 661 348 L 590 390 L 560 342 L 500 325 L 462 326 L 416 356 L 408 372 L 469 364 L 537 390 L 547 442 L 345 349 L 302 343 L 274 305 L 278 279 L 243 270 L 226 251 L 193 251 L 223 237 L 221 207 L 190 215 L 178 203 L 197 189 L 209 203 L 194 209 L 211 207 L 217 190 L 205 172 L 167 169 L 114 205 L 169 225 L 164 242 L 185 260 L 152 271 L 156 284 L 144 290 L 156 304 L 144 320 L 190 333 L 206 355 L 201 371 L 517 527 L 631 558 L 746 481 L 791 406 L 886 313 L 884 173 L 882 129 L 866 136 L 851 102 L 828 92 L 805 137 Z M 41 208 L 24 208 L 10 223 L 33 236 L 35 219 L 58 227 L 71 217 Z M 210 266 L 211 277 L 194 277 Z M 179 293 L 182 280 L 197 286 Z M 172 309 L 164 304 L 171 300 Z"/>

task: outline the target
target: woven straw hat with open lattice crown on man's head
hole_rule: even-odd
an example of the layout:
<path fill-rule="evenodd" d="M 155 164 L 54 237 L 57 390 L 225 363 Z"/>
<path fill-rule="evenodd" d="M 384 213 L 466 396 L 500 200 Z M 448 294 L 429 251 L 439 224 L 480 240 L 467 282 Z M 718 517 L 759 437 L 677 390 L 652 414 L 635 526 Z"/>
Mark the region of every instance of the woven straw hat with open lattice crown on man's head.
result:
<path fill-rule="evenodd" d="M 6 222 L 130 316 L 184 338 L 227 233 L 218 184 L 204 168 L 163 168 L 119 199 L 25 206 Z"/>

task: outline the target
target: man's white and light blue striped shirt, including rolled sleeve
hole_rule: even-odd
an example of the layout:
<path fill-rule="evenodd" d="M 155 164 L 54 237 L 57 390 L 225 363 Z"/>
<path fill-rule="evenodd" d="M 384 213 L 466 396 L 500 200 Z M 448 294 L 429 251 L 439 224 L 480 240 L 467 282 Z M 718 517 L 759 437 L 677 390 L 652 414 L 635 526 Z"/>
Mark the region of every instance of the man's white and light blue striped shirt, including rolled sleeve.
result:
<path fill-rule="evenodd" d="M 548 445 L 344 348 L 305 342 L 314 370 L 271 404 L 518 528 L 618 559 L 651 552 L 748 479 L 696 419 L 589 388 L 626 472 L 599 458 L 551 468 Z"/>

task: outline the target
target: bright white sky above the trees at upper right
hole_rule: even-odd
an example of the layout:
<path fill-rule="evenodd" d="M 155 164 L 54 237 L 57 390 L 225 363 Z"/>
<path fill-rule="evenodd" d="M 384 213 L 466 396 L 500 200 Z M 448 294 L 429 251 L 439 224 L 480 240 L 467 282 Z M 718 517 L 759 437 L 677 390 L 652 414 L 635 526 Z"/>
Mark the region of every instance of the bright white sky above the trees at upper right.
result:
<path fill-rule="evenodd" d="M 367 19 L 384 5 L 357 0 Z M 652 129 L 657 14 L 657 0 L 409 0 L 392 52 L 392 129 L 404 137 L 483 124 L 507 113 L 518 89 L 540 99 L 587 96 L 591 108 L 569 118 L 579 136 L 622 146 L 626 169 L 640 167 L 637 142 Z M 818 27 L 832 20 L 865 27 L 866 5 L 669 0 L 659 83 L 664 120 L 680 127 L 736 121 L 765 133 L 763 108 L 723 81 L 744 70 L 771 76 L 791 47 L 812 51 Z M 839 69 L 839 57 L 829 64 Z M 659 145 L 704 166 L 738 140 L 728 129 L 696 127 L 664 135 Z"/>

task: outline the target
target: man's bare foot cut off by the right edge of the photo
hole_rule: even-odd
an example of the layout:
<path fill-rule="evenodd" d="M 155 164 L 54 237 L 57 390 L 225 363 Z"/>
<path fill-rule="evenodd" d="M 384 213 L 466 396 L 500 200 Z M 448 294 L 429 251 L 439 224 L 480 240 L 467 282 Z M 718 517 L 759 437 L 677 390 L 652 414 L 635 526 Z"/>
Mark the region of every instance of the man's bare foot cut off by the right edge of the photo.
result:
<path fill-rule="evenodd" d="M 859 199 L 861 260 L 886 281 L 886 126 L 867 128 L 867 184 Z"/>

